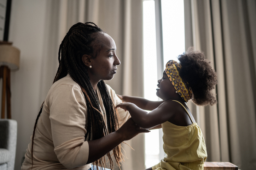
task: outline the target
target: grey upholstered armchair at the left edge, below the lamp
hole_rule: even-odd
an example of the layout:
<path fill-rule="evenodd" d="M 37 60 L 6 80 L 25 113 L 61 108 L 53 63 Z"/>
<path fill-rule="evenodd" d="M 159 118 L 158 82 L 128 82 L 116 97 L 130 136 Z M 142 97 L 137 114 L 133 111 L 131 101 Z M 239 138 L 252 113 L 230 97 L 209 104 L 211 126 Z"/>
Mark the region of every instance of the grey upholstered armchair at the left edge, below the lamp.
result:
<path fill-rule="evenodd" d="M 13 170 L 17 145 L 17 121 L 0 119 L 0 170 Z"/>

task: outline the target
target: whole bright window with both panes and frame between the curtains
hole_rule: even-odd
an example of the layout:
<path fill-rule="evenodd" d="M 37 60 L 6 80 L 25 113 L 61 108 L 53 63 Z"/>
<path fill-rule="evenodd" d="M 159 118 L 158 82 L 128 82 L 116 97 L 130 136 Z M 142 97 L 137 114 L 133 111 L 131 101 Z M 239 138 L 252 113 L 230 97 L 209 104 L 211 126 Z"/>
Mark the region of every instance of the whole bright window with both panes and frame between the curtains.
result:
<path fill-rule="evenodd" d="M 165 64 L 185 52 L 184 1 L 144 0 L 144 97 L 156 96 L 157 80 L 162 77 Z M 145 166 L 160 162 L 163 151 L 162 129 L 145 134 Z"/>

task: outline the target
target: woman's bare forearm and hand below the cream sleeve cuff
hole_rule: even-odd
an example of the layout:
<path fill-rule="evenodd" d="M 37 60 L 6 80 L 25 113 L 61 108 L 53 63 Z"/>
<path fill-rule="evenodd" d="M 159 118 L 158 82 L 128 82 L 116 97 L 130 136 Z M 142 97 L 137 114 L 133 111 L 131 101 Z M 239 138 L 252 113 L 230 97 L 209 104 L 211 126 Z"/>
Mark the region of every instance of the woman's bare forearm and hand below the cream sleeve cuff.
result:
<path fill-rule="evenodd" d="M 147 129 L 140 128 L 135 124 L 132 118 L 128 119 L 127 122 L 115 132 L 112 132 L 100 139 L 88 141 L 89 144 L 89 158 L 88 163 L 92 163 L 95 160 L 106 155 L 117 145 L 125 140 L 132 139 L 139 133 L 150 132 Z"/>

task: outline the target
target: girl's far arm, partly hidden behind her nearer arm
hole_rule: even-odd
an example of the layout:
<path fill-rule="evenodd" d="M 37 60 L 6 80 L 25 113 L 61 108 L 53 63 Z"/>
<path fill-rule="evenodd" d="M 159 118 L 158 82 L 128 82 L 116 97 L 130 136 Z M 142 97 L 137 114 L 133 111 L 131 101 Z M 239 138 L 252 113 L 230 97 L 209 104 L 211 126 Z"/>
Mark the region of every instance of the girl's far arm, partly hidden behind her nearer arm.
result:
<path fill-rule="evenodd" d="M 144 99 L 142 97 L 134 97 L 134 96 L 127 96 L 127 95 L 118 95 L 117 94 L 117 96 L 123 102 L 134 103 L 139 108 L 147 110 L 147 111 L 152 111 L 153 109 L 157 108 L 159 105 L 161 105 L 164 102 L 164 101 L 150 101 L 150 100 Z"/>

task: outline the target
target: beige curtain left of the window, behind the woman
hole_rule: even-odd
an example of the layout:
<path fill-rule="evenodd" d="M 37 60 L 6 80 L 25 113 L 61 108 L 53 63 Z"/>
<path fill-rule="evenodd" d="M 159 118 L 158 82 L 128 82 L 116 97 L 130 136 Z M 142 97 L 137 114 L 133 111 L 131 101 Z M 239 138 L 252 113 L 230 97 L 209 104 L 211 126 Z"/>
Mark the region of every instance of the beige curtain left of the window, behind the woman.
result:
<path fill-rule="evenodd" d="M 44 57 L 42 58 L 40 98 L 51 87 L 58 67 L 58 48 L 69 28 L 77 22 L 93 22 L 106 31 L 117 46 L 121 61 L 114 79 L 107 81 L 117 94 L 143 96 L 142 0 L 49 0 L 47 1 Z M 123 145 L 122 170 L 145 169 L 144 135 Z"/>

